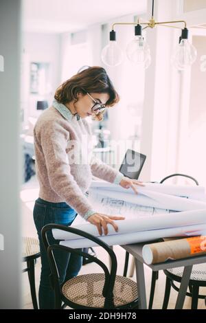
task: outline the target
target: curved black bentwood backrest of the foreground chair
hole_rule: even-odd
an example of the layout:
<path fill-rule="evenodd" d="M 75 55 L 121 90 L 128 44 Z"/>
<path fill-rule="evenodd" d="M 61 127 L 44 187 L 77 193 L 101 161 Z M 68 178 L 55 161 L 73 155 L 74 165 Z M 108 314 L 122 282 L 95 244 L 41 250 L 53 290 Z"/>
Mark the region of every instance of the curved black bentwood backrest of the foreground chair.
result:
<path fill-rule="evenodd" d="M 98 245 L 100 245 L 100 247 L 103 247 L 106 250 L 106 252 L 108 253 L 109 257 L 111 258 L 111 271 L 110 272 L 108 271 L 108 268 L 106 267 L 106 265 L 104 263 L 102 263 L 101 260 L 92 256 L 91 254 L 88 254 L 87 252 L 82 252 L 79 249 L 73 249 L 71 247 L 59 245 L 58 243 L 53 244 L 53 245 L 49 244 L 49 241 L 47 238 L 47 232 L 49 232 L 53 229 L 58 229 L 58 230 L 62 230 L 65 232 L 71 232 L 73 234 L 77 234 L 78 236 L 82 236 L 84 238 L 87 238 L 87 239 L 97 243 Z M 54 252 L 53 252 L 55 249 L 56 250 L 58 249 L 58 250 L 61 250 L 62 252 L 69 252 L 71 254 L 73 253 L 73 254 L 78 254 L 80 256 L 85 256 L 85 257 L 89 258 L 90 260 L 92 260 L 93 262 L 100 265 L 100 267 L 102 267 L 102 269 L 104 270 L 104 274 L 105 274 L 105 281 L 104 281 L 104 288 L 102 290 L 102 295 L 105 298 L 106 304 L 108 304 L 108 303 L 113 304 L 113 288 L 115 285 L 115 278 L 116 278 L 116 272 L 117 272 L 117 258 L 115 256 L 115 253 L 111 249 L 111 247 L 109 247 L 109 245 L 107 245 L 106 243 L 101 241 L 100 238 L 95 237 L 92 234 L 89 234 L 89 233 L 84 232 L 82 230 L 78 230 L 74 227 L 67 227 L 65 225 L 59 225 L 59 224 L 53 224 L 53 223 L 45 225 L 43 227 L 43 229 L 41 230 L 41 236 L 43 238 L 43 244 L 45 246 L 45 249 L 47 250 L 49 265 L 50 265 L 50 269 L 52 271 L 52 280 L 51 280 L 52 287 L 54 288 L 54 291 L 56 293 L 59 293 L 59 294 L 61 293 L 60 284 L 59 284 L 58 268 L 56 265 L 56 260 L 55 260 Z M 84 246 L 82 246 L 82 247 L 84 247 Z"/>

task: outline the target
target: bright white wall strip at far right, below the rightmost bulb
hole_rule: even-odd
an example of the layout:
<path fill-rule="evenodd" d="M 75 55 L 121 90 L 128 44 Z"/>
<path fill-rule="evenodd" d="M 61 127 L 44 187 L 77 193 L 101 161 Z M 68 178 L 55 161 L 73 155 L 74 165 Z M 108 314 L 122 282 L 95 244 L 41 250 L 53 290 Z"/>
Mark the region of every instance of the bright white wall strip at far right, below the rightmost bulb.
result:
<path fill-rule="evenodd" d="M 199 183 L 206 186 L 206 70 L 201 69 L 201 57 L 206 55 L 206 35 L 194 36 L 193 44 L 198 51 L 198 57 L 191 73 L 185 169 L 188 174 L 196 177 Z"/>

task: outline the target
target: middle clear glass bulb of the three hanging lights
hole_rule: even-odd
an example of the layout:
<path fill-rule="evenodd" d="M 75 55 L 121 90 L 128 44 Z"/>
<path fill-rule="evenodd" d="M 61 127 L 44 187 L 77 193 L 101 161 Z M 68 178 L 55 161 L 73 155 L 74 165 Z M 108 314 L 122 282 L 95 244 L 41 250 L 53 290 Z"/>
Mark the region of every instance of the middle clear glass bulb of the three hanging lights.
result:
<path fill-rule="evenodd" d="M 148 68 L 151 63 L 150 47 L 141 35 L 135 36 L 126 47 L 128 59 L 135 64 L 144 64 Z"/>

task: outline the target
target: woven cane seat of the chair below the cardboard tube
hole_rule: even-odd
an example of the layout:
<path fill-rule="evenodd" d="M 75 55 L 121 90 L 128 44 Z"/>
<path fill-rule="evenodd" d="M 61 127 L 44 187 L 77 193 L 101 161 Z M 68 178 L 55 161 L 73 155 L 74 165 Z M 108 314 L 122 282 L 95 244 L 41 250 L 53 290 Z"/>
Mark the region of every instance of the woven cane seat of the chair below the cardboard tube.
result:
<path fill-rule="evenodd" d="M 172 274 L 172 275 L 176 275 L 179 277 L 183 276 L 183 270 L 184 267 L 177 267 L 177 268 L 171 268 L 171 269 L 167 269 L 167 271 Z M 192 267 L 192 273 L 190 276 L 191 280 L 205 280 L 206 281 L 206 263 L 203 263 L 201 265 L 194 265 Z"/>

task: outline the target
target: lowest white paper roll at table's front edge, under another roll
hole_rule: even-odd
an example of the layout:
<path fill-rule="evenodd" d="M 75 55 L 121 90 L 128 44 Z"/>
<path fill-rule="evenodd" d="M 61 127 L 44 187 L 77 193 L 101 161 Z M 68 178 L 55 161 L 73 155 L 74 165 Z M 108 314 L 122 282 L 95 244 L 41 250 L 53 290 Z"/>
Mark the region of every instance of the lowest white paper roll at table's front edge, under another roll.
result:
<path fill-rule="evenodd" d="M 143 232 L 133 232 L 130 234 L 117 234 L 111 236 L 100 236 L 100 240 L 108 245 L 128 245 L 131 243 L 141 243 L 152 241 L 157 238 L 166 238 L 170 236 L 198 236 L 206 234 L 206 225 L 189 225 L 185 227 L 172 227 L 164 230 L 150 230 Z M 87 238 L 60 241 L 60 245 L 71 248 L 95 247 L 98 244 Z"/>

